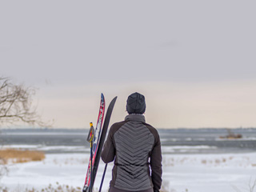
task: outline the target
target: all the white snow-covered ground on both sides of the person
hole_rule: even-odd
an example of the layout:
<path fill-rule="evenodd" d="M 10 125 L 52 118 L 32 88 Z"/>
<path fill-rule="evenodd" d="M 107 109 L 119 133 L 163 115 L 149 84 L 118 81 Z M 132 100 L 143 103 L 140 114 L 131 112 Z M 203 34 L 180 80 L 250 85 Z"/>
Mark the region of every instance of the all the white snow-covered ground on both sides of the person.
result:
<path fill-rule="evenodd" d="M 10 191 L 26 188 L 41 190 L 49 184 L 82 187 L 88 154 L 46 154 L 42 162 L 8 165 L 9 174 L 0 186 Z M 163 185 L 171 192 L 250 191 L 256 180 L 256 153 L 247 154 L 163 154 Z M 104 164 L 98 168 L 95 187 L 100 186 Z M 103 191 L 107 191 L 111 167 L 108 166 Z M 256 187 L 254 189 L 256 191 Z"/>

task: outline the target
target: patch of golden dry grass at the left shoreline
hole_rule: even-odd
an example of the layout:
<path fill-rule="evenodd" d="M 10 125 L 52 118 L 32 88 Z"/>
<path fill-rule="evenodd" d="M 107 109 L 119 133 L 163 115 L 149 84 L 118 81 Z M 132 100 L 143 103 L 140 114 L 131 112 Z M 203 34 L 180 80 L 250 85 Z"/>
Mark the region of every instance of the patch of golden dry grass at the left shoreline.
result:
<path fill-rule="evenodd" d="M 45 154 L 36 150 L 13 150 L 6 149 L 0 150 L 0 159 L 4 159 L 4 162 L 32 162 L 42 161 L 46 158 Z"/>

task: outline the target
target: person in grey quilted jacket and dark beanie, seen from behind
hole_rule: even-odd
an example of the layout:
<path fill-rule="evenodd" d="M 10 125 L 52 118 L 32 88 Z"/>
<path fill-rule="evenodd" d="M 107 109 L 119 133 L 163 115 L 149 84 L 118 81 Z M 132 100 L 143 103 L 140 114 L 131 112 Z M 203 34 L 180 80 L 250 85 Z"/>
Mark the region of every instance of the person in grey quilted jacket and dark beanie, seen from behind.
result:
<path fill-rule="evenodd" d="M 113 162 L 110 192 L 158 192 L 162 184 L 162 153 L 158 131 L 146 123 L 145 97 L 130 94 L 128 115 L 110 127 L 102 161 Z"/>

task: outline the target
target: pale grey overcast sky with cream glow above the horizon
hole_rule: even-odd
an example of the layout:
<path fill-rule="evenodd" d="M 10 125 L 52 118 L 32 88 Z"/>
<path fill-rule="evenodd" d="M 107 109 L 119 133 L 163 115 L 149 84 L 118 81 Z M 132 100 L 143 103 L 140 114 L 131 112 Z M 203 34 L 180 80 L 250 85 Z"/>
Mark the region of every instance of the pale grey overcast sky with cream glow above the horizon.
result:
<path fill-rule="evenodd" d="M 38 88 L 54 127 L 96 122 L 100 94 L 146 96 L 157 128 L 256 126 L 255 1 L 1 1 L 0 75 Z"/>

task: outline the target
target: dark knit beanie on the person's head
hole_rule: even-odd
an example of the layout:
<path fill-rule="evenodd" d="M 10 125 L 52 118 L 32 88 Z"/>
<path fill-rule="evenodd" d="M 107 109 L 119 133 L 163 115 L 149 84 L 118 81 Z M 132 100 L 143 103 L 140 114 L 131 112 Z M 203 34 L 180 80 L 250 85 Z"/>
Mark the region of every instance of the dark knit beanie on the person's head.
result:
<path fill-rule="evenodd" d="M 127 98 L 126 110 L 128 114 L 144 114 L 146 110 L 145 97 L 137 92 Z"/>

